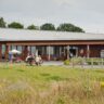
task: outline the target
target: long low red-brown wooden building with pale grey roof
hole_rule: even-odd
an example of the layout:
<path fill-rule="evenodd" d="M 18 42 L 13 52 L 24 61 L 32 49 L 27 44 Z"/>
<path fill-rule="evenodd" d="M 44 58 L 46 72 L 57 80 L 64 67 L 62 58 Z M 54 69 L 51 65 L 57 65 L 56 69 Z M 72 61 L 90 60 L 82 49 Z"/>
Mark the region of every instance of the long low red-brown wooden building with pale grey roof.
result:
<path fill-rule="evenodd" d="M 48 61 L 104 57 L 104 35 L 0 28 L 0 58 L 9 58 L 12 49 L 21 51 L 23 60 L 30 53 Z"/>

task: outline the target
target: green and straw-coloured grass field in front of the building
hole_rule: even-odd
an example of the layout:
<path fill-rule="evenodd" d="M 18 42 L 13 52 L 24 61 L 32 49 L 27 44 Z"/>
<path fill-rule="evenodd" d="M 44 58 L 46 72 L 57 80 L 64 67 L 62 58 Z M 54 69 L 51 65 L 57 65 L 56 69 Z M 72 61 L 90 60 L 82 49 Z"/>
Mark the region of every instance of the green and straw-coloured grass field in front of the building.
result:
<path fill-rule="evenodd" d="M 104 69 L 0 65 L 0 104 L 104 104 Z"/>

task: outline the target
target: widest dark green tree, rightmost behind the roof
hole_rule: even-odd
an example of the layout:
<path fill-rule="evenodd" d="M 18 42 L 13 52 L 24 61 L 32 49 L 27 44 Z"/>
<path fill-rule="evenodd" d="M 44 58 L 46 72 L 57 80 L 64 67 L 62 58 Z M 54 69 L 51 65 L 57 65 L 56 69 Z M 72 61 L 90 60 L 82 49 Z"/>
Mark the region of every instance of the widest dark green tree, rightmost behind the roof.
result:
<path fill-rule="evenodd" d="M 73 24 L 61 24 L 58 27 L 57 27 L 57 30 L 58 31 L 74 31 L 74 32 L 84 32 L 84 30 L 80 27 L 77 27 Z"/>

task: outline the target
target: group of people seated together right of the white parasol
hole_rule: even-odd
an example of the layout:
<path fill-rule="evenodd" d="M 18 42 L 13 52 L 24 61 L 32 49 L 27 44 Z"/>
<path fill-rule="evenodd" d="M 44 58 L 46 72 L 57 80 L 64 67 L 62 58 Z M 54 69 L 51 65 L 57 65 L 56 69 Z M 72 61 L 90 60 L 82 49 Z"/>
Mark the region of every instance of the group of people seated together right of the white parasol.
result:
<path fill-rule="evenodd" d="M 43 63 L 42 58 L 40 55 L 27 55 L 26 57 L 26 63 L 29 64 L 29 65 L 41 65 Z"/>

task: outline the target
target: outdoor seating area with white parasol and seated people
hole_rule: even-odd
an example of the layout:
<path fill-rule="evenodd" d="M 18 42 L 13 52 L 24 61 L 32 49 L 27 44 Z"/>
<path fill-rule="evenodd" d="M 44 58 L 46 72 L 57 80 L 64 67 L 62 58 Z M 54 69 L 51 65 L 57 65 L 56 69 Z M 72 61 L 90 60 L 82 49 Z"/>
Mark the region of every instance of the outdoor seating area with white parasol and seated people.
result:
<path fill-rule="evenodd" d="M 17 51 L 15 49 L 9 51 L 9 57 L 8 60 L 2 58 L 1 62 L 9 62 L 9 63 L 22 63 L 25 62 L 26 65 L 41 65 L 43 63 L 43 60 L 40 55 L 28 54 L 25 58 L 25 61 L 22 60 L 22 52 Z"/>

